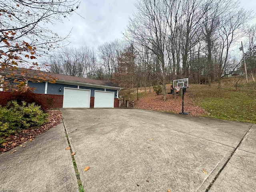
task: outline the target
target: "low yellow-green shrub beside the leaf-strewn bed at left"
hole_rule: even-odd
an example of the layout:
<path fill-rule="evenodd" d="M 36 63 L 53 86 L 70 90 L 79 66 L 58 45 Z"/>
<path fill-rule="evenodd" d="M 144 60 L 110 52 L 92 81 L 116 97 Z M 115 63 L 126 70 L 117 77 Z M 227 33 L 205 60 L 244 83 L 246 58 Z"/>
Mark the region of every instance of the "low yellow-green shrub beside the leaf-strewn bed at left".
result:
<path fill-rule="evenodd" d="M 22 102 L 19 105 L 17 101 L 10 101 L 6 106 L 0 106 L 0 136 L 41 126 L 47 121 L 47 117 L 48 114 L 35 103 L 27 105 L 26 102 Z"/>

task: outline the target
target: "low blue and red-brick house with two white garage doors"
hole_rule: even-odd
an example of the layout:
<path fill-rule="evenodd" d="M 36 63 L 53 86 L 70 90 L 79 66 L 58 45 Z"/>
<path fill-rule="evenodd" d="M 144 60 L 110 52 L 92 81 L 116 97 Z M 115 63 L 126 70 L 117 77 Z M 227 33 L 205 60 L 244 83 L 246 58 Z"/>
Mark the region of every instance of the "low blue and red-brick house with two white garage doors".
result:
<path fill-rule="evenodd" d="M 15 75 L 21 74 L 22 70 L 28 69 L 18 68 Z M 0 69 L 3 77 L 11 73 L 13 71 Z M 38 76 L 51 76 L 56 79 L 55 83 L 27 81 L 28 86 L 34 88 L 34 93 L 54 100 L 52 108 L 118 107 L 118 91 L 122 88 L 111 82 L 30 69 L 29 74 L 30 79 L 32 77 L 35 80 Z"/>

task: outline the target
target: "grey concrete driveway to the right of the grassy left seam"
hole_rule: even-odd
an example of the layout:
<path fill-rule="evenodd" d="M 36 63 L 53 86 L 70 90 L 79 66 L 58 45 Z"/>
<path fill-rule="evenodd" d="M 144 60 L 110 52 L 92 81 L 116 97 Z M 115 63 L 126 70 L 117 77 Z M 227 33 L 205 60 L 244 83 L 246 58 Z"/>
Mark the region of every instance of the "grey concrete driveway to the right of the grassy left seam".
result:
<path fill-rule="evenodd" d="M 61 111 L 86 192 L 256 188 L 255 124 L 138 109 Z"/>

